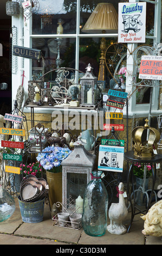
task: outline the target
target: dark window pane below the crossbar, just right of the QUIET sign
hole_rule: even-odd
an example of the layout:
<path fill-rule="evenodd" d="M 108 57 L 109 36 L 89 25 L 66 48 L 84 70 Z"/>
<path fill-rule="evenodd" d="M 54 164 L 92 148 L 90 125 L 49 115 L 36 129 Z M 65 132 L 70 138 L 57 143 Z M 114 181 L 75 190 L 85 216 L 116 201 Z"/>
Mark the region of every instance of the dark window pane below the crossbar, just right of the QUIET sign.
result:
<path fill-rule="evenodd" d="M 75 69 L 75 39 L 63 38 L 61 42 L 56 38 L 33 38 L 33 48 L 41 50 L 43 57 L 41 61 L 32 61 L 33 65 L 33 79 L 38 80 L 43 74 L 48 71 L 58 68 L 57 46 L 60 43 L 60 65 L 59 67 L 74 68 Z M 45 80 L 54 80 L 52 74 L 44 77 Z"/>

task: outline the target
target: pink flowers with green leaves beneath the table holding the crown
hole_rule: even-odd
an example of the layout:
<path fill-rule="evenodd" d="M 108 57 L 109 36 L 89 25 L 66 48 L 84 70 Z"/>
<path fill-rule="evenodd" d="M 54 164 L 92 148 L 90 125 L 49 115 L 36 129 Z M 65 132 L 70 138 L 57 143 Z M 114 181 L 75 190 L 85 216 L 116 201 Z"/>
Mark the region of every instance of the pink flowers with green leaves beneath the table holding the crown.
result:
<path fill-rule="evenodd" d="M 144 169 L 145 164 L 144 163 L 136 163 L 133 167 L 133 174 L 134 176 L 137 176 L 140 179 L 144 178 Z M 146 164 L 146 179 L 148 179 L 151 176 L 151 166 L 150 164 Z"/>

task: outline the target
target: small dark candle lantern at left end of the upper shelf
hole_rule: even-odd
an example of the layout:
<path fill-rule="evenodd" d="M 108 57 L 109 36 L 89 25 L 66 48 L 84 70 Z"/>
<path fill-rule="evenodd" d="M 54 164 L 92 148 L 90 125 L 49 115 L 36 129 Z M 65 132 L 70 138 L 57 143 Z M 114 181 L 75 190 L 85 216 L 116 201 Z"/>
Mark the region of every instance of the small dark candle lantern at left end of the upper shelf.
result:
<path fill-rule="evenodd" d="M 29 104 L 36 104 L 41 100 L 41 88 L 43 88 L 43 81 L 28 81 Z"/>

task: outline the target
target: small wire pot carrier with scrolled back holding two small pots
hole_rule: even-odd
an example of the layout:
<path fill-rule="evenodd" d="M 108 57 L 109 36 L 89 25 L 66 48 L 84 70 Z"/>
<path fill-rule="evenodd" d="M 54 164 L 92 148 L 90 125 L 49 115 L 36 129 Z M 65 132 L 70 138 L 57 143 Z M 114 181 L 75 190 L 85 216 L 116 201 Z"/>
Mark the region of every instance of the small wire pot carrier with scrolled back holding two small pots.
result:
<path fill-rule="evenodd" d="M 57 202 L 56 203 L 56 208 L 60 208 L 62 206 L 62 210 L 60 212 L 66 212 L 69 214 L 69 216 L 71 216 L 72 214 L 77 214 L 79 213 L 79 209 L 82 208 L 82 206 L 80 207 L 75 207 L 75 200 L 72 199 L 72 196 L 69 196 L 69 198 L 67 199 L 67 204 L 66 206 L 64 206 L 62 203 Z M 57 213 L 52 220 L 54 221 L 54 225 L 62 227 L 62 228 L 70 228 L 70 229 L 76 229 L 79 230 L 82 227 L 82 221 L 79 222 L 71 222 L 71 221 L 63 221 L 63 220 L 59 220 Z"/>

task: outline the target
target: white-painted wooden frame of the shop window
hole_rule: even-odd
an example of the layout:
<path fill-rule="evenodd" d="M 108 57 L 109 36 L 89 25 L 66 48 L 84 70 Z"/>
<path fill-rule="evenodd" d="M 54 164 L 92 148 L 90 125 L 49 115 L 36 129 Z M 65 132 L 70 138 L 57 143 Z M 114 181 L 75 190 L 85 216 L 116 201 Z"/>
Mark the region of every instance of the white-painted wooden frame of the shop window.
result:
<path fill-rule="evenodd" d="M 139 2 L 137 0 L 129 0 L 129 2 Z M 152 4 L 155 4 L 154 9 L 154 35 L 153 36 L 146 36 L 146 38 L 153 39 L 154 45 L 157 42 L 160 42 L 160 29 L 161 29 L 161 0 L 150 1 L 150 0 L 143 0 L 143 2 L 149 2 Z M 23 11 L 23 10 L 22 10 Z M 76 57 L 75 57 L 75 69 L 79 69 L 79 42 L 80 38 L 102 38 L 103 36 L 105 38 L 118 38 L 118 34 L 80 34 L 80 0 L 77 0 L 77 6 L 76 6 L 76 34 L 32 34 L 32 17 L 30 17 L 28 20 L 24 20 L 23 15 L 20 15 L 20 18 L 12 16 L 12 26 L 18 27 L 18 30 L 20 33 L 18 34 L 18 45 L 29 47 L 32 46 L 32 39 L 33 38 L 75 38 L 76 39 Z M 24 31 L 24 35 L 22 36 L 22 31 Z M 23 40 L 22 40 L 23 38 Z M 24 45 L 22 45 L 24 42 Z M 128 48 L 132 49 L 132 44 L 127 44 Z M 133 44 L 133 47 L 137 47 L 137 44 Z M 32 62 L 31 59 L 18 57 L 18 71 L 17 74 L 12 74 L 12 88 L 14 88 L 14 84 L 17 84 L 17 81 L 19 81 L 18 86 L 22 83 L 22 74 L 23 71 L 25 71 L 25 77 L 24 77 L 24 90 L 25 90 L 25 100 L 27 99 L 28 94 L 28 81 L 31 80 L 31 70 L 32 70 Z M 76 72 L 76 81 L 78 79 L 78 74 Z M 126 82 L 126 90 L 127 90 L 127 84 L 130 84 L 130 81 Z M 18 88 L 18 87 L 17 87 Z M 153 113 L 158 113 L 158 102 L 156 99 L 156 95 L 159 93 L 159 88 L 153 88 L 153 94 L 152 94 L 152 111 Z M 135 94 L 134 94 L 135 95 Z M 148 114 L 148 108 L 150 104 L 142 104 L 142 113 L 141 113 L 141 104 L 135 103 L 135 96 L 132 95 L 129 99 L 129 109 L 128 109 L 128 115 L 132 116 L 134 114 L 142 115 L 145 113 Z M 12 101 L 16 99 L 16 90 L 12 90 Z M 25 108 L 25 112 L 29 112 L 30 110 Z M 37 111 L 40 112 L 40 109 L 37 108 Z M 47 112 L 49 113 L 49 109 L 47 108 L 41 108 L 41 112 Z M 51 111 L 52 112 L 52 111 Z M 125 110 L 124 110 L 125 115 Z"/>

